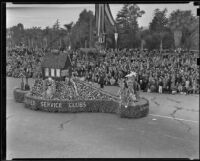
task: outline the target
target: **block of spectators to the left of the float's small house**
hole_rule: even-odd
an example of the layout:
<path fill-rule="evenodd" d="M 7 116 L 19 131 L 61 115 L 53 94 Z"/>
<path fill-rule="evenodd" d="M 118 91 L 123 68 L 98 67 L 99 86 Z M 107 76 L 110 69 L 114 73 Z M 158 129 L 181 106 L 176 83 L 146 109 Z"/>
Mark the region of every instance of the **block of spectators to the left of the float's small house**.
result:
<path fill-rule="evenodd" d="M 43 49 L 27 49 L 23 47 L 9 48 L 6 53 L 6 74 L 19 78 L 21 73 L 29 78 L 41 75 L 40 65 L 44 57 Z"/>

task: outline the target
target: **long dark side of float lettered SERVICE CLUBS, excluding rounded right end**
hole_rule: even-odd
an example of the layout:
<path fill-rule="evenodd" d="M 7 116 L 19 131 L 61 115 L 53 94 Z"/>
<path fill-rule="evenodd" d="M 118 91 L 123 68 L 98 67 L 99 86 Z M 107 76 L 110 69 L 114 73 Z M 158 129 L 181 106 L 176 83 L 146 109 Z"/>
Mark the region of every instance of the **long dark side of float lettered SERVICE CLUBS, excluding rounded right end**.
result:
<path fill-rule="evenodd" d="M 49 112 L 106 112 L 115 113 L 118 102 L 112 100 L 44 100 L 25 95 L 25 107 Z"/>

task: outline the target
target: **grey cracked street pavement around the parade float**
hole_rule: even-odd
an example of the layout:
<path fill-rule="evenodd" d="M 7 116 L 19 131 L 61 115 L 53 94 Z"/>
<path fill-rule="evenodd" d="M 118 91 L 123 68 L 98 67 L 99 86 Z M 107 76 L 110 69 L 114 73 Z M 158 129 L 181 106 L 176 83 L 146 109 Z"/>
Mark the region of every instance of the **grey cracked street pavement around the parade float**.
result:
<path fill-rule="evenodd" d="M 33 80 L 29 80 L 30 83 Z M 141 93 L 150 112 L 140 119 L 106 113 L 49 113 L 16 103 L 7 78 L 7 160 L 13 158 L 199 159 L 199 95 Z M 117 87 L 105 87 L 115 93 Z"/>

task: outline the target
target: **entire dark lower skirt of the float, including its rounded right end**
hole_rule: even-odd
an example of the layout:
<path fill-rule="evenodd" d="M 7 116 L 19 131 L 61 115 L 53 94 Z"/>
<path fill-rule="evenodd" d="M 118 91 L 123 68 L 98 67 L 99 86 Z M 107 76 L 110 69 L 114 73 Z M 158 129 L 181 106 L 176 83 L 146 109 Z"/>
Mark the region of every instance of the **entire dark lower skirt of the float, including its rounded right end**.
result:
<path fill-rule="evenodd" d="M 32 110 L 48 112 L 103 112 L 117 113 L 121 117 L 139 118 L 146 116 L 149 111 L 148 100 L 141 98 L 136 106 L 125 108 L 119 106 L 119 102 L 113 100 L 47 100 L 32 96 L 30 93 L 25 95 L 25 107 Z"/>

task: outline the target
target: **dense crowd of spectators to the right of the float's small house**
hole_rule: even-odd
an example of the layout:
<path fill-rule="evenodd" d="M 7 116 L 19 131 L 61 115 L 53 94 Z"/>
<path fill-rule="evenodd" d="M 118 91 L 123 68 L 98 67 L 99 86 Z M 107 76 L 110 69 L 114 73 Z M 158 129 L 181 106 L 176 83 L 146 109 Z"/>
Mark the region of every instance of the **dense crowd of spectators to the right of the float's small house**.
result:
<path fill-rule="evenodd" d="M 146 92 L 199 93 L 197 54 L 192 51 L 107 50 L 88 61 L 88 55 L 73 54 L 75 74 L 101 85 L 119 85 L 131 71 Z M 102 85 L 102 86 L 103 86 Z"/>

